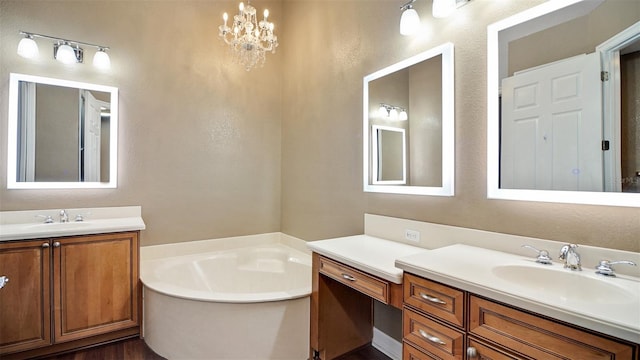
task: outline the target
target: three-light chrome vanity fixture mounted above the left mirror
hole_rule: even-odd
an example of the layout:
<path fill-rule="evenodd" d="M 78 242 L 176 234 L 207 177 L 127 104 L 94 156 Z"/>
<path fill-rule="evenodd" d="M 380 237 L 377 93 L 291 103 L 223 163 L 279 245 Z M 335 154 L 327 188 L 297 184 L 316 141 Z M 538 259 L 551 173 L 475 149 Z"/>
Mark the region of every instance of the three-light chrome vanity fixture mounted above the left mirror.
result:
<path fill-rule="evenodd" d="M 22 57 L 31 59 L 38 56 L 38 44 L 34 38 L 43 38 L 55 41 L 53 44 L 53 57 L 63 64 L 82 63 L 84 61 L 84 49 L 80 47 L 80 45 L 82 45 L 98 49 L 93 57 L 93 65 L 95 67 L 100 69 L 109 69 L 111 67 L 109 54 L 106 53 L 109 49 L 108 46 L 94 45 L 25 31 L 20 31 L 20 35 L 24 35 L 24 38 L 20 40 L 18 44 L 18 55 Z"/>

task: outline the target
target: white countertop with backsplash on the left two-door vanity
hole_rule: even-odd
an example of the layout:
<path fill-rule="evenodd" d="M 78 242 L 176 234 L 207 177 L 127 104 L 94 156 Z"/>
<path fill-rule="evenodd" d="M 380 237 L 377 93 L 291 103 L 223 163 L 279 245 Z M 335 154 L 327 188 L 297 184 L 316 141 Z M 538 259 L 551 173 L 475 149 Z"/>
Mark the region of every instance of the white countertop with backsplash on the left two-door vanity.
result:
<path fill-rule="evenodd" d="M 144 230 L 139 206 L 69 209 L 70 221 L 60 223 L 60 210 L 3 211 L 0 213 L 0 241 L 26 240 L 46 237 L 100 234 L 119 231 Z M 77 214 L 84 221 L 74 221 Z M 88 214 L 88 215 L 87 215 Z M 45 224 L 38 216 L 52 216 L 54 222 Z"/>

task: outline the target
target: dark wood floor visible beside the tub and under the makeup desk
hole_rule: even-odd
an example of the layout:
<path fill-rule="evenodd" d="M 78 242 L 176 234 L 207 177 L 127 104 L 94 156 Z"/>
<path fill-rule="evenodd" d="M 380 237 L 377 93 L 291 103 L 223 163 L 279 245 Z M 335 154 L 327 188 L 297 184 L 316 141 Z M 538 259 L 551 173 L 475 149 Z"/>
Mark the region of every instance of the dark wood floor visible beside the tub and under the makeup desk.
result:
<path fill-rule="evenodd" d="M 46 360 L 166 360 L 151 350 L 142 339 L 129 339 L 91 349 L 80 350 Z M 364 347 L 336 360 L 391 360 L 373 346 Z"/>

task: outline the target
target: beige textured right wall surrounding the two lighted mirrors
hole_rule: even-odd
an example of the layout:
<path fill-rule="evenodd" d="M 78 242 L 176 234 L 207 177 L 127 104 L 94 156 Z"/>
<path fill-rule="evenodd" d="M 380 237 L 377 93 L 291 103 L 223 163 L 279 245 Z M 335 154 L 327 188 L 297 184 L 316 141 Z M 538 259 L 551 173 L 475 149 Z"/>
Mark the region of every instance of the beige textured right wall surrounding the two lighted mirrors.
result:
<path fill-rule="evenodd" d="M 357 234 L 368 212 L 639 251 L 640 208 L 486 198 L 486 27 L 542 2 L 474 0 L 436 20 L 429 1 L 418 1 L 425 29 L 410 38 L 398 32 L 399 2 L 285 2 L 286 27 L 305 30 L 283 37 L 283 94 L 295 101 L 283 107 L 282 230 L 308 240 Z M 455 197 L 362 193 L 362 77 L 447 41 L 455 44 Z"/>

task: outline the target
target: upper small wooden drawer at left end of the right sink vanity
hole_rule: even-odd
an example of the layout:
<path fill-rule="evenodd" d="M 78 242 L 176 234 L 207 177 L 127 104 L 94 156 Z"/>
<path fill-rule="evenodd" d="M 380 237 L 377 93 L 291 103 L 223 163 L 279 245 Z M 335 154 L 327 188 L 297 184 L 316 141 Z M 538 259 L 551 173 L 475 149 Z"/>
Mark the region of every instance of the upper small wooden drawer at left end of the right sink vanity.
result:
<path fill-rule="evenodd" d="M 464 297 L 461 290 L 415 275 L 404 274 L 404 302 L 462 328 Z"/>

